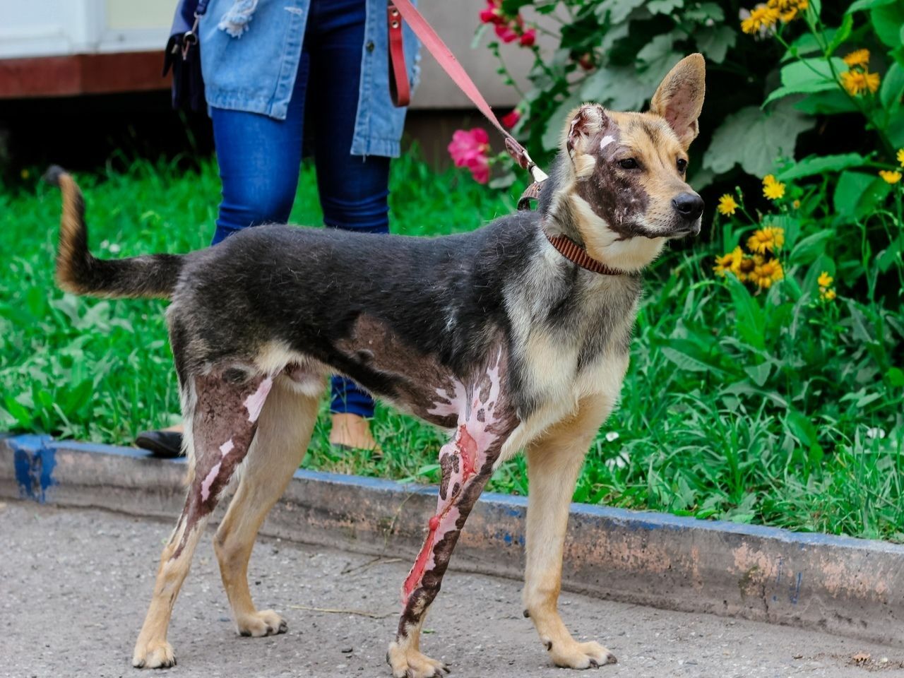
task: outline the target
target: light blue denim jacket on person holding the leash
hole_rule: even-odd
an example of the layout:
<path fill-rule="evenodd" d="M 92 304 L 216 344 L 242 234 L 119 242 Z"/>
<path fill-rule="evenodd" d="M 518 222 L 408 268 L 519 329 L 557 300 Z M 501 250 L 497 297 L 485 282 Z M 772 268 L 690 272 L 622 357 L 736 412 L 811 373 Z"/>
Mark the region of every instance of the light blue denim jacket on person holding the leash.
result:
<path fill-rule="evenodd" d="M 398 157 L 405 108 L 393 105 L 389 83 L 386 0 L 366 0 L 361 83 L 352 155 Z M 211 0 L 199 25 L 208 106 L 286 119 L 295 84 L 310 0 L 259 0 L 253 21 L 238 37 L 218 27 L 235 0 Z M 408 25 L 402 39 L 412 88 L 419 42 Z"/>

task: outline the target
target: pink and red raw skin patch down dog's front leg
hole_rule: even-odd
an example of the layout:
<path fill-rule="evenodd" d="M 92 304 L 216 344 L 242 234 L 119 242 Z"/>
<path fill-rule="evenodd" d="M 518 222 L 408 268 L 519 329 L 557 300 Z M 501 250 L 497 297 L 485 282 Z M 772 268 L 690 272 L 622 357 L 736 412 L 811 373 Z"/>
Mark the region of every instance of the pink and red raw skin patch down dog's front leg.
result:
<path fill-rule="evenodd" d="M 457 414 L 458 423 L 455 438 L 439 450 L 443 474 L 448 475 L 448 478 L 443 478 L 447 492 L 441 492 L 438 497 L 437 513 L 428 522 L 427 539 L 402 586 L 403 603 L 407 603 L 411 594 L 418 589 L 425 572 L 433 569 L 434 545 L 442 541 L 447 533 L 458 529 L 458 499 L 466 485 L 483 469 L 486 451 L 499 438 L 496 429 L 501 423 L 499 413 L 502 409 L 499 398 L 500 357 L 496 358 L 495 364 L 470 389 L 466 389 L 461 381 L 455 382 L 455 392 L 452 394 L 445 389 L 437 389 L 441 400 L 434 404 L 433 409 L 428 410 L 430 414 L 440 416 Z M 444 461 L 451 463 L 444 464 Z"/>

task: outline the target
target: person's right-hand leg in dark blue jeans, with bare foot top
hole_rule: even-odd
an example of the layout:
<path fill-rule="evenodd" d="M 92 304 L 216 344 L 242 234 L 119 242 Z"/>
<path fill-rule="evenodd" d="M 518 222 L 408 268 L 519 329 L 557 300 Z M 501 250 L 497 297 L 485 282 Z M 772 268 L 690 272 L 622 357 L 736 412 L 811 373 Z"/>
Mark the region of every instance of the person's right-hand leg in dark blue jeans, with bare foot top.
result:
<path fill-rule="evenodd" d="M 365 3 L 330 0 L 317 5 L 310 100 L 318 105 L 309 119 L 316 129 L 315 165 L 324 223 L 327 228 L 387 233 L 390 159 L 349 153 L 361 83 Z M 344 377 L 334 377 L 330 411 L 331 442 L 376 447 L 367 422 L 373 416 L 373 400 L 366 391 Z"/>

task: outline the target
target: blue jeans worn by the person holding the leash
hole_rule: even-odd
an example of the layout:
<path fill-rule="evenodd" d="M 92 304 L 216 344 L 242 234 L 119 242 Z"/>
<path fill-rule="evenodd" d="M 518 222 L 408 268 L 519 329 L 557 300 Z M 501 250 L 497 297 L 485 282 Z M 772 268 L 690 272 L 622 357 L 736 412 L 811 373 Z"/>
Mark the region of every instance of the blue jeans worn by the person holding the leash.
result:
<path fill-rule="evenodd" d="M 305 122 L 328 228 L 389 232 L 390 159 L 351 155 L 364 42 L 364 0 L 312 0 L 285 120 L 212 108 L 222 202 L 212 245 L 262 223 L 286 223 L 298 187 Z M 242 39 L 247 39 L 243 37 Z M 305 110 L 305 101 L 312 102 Z M 333 378 L 332 412 L 373 416 L 371 396 Z"/>

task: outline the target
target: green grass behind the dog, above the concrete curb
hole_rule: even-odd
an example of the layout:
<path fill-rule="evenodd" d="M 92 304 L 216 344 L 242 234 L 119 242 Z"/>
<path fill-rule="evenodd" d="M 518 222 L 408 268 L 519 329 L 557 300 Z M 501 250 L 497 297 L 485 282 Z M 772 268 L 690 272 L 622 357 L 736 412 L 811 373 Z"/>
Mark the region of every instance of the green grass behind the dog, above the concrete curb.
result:
<path fill-rule="evenodd" d="M 137 162 L 122 174 L 79 179 L 91 246 L 101 256 L 195 250 L 210 240 L 220 190 L 211 162 L 187 173 Z M 314 187 L 306 167 L 293 222 L 320 223 Z M 495 193 L 455 171 L 435 174 L 411 158 L 394 163 L 391 188 L 392 231 L 419 235 L 474 229 L 512 212 L 517 194 Z M 0 228 L 15 248 L 5 250 L 0 269 L 0 430 L 128 444 L 137 431 L 179 418 L 165 305 L 71 297 L 54 287 L 59 204 L 43 185 L 0 194 Z M 707 358 L 676 353 L 694 336 L 738 344 L 733 297 L 711 277 L 712 251 L 698 242 L 667 254 L 647 275 L 622 403 L 590 449 L 576 501 L 904 540 L 899 391 L 871 400 L 852 386 L 845 400 L 810 385 L 807 400 L 797 401 L 734 385 L 729 376 L 743 376 L 742 366 L 723 358 L 702 363 Z M 849 319 L 833 322 L 843 325 L 837 336 L 849 334 Z M 824 332 L 814 326 L 802 336 Z M 829 374 L 822 381 L 856 385 L 870 373 L 870 356 L 832 337 L 820 345 L 833 357 L 813 369 Z M 838 378 L 829 372 L 836 360 Z M 781 369 L 811 367 L 789 361 L 774 373 Z M 804 419 L 791 415 L 794 408 Z M 327 426 L 324 410 L 305 467 L 438 481 L 443 439 L 425 424 L 379 406 L 379 460 L 334 452 Z M 873 427 L 885 438 L 871 438 Z M 500 468 L 490 489 L 526 494 L 523 458 Z"/>

